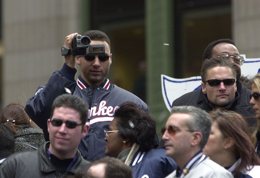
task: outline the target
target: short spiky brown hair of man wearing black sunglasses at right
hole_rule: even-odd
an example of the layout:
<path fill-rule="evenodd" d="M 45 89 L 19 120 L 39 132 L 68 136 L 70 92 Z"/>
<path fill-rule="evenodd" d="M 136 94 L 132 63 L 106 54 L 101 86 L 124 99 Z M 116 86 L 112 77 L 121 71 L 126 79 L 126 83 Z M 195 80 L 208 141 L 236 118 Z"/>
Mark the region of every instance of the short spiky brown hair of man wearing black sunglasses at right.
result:
<path fill-rule="evenodd" d="M 205 60 L 201 65 L 201 80 L 206 80 L 206 74 L 209 69 L 214 67 L 228 67 L 232 70 L 232 74 L 236 79 L 236 64 L 233 63 L 231 60 L 228 60 L 226 57 L 214 57 Z"/>

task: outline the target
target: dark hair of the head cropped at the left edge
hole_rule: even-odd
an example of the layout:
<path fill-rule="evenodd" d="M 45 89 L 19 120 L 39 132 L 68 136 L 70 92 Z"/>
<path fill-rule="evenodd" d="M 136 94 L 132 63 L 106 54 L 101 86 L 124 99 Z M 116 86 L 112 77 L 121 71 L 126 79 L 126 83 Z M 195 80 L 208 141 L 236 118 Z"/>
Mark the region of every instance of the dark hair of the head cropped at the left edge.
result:
<path fill-rule="evenodd" d="M 15 138 L 11 129 L 2 123 L 0 124 L 0 150 L 0 158 L 15 152 Z"/>

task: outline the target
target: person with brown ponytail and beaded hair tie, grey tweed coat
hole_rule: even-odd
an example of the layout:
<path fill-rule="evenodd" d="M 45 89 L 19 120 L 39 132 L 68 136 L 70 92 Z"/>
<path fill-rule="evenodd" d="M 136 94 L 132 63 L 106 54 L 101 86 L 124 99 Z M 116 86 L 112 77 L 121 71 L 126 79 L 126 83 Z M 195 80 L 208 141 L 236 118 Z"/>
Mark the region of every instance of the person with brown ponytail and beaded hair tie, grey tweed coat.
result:
<path fill-rule="evenodd" d="M 43 132 L 35 127 L 36 124 L 26 114 L 23 106 L 5 106 L 1 111 L 0 120 L 11 129 L 15 137 L 15 153 L 36 150 L 45 143 Z"/>

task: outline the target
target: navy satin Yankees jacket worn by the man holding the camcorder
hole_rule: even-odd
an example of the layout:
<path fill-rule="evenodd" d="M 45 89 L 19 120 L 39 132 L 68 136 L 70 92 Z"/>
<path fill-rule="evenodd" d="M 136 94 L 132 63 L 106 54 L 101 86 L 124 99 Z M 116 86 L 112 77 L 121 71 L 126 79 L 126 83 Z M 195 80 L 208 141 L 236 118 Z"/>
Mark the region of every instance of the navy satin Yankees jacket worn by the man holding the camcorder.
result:
<path fill-rule="evenodd" d="M 90 107 L 87 121 L 89 133 L 81 139 L 79 150 L 83 158 L 93 161 L 105 156 L 104 130 L 108 130 L 108 126 L 114 118 L 114 110 L 120 104 L 130 101 L 137 103 L 146 111 L 149 111 L 149 108 L 134 94 L 110 84 L 107 78 L 100 86 L 95 87 L 89 87 L 81 76 L 78 76 L 78 80 L 75 81 L 76 72 L 75 68 L 72 69 L 64 63 L 63 68 L 54 72 L 45 86 L 38 87 L 35 95 L 27 101 L 25 111 L 43 129 L 45 139 L 49 140 L 47 119 L 50 118 L 54 99 L 66 93 L 64 87 L 85 99 Z"/>

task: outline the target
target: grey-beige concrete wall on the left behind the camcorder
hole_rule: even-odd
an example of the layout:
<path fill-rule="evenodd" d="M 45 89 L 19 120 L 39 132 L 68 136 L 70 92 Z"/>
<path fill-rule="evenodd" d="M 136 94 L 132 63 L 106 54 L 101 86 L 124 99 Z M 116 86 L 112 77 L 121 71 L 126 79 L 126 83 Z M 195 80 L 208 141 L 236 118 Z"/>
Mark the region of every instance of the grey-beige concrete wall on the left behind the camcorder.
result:
<path fill-rule="evenodd" d="M 64 39 L 79 30 L 78 3 L 2 1 L 2 106 L 11 102 L 25 105 L 37 87 L 63 66 Z"/>

